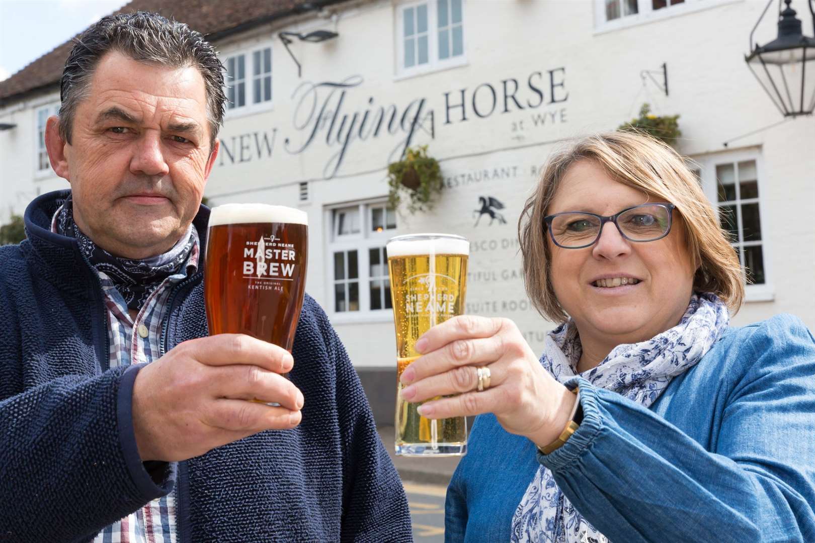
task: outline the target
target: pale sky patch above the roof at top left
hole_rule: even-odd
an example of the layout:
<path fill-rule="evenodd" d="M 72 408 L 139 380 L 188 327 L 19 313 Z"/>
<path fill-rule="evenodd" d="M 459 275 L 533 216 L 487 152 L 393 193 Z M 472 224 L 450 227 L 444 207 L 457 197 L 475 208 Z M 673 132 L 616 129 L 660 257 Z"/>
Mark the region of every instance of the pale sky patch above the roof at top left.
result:
<path fill-rule="evenodd" d="M 0 81 L 130 0 L 0 0 Z"/>

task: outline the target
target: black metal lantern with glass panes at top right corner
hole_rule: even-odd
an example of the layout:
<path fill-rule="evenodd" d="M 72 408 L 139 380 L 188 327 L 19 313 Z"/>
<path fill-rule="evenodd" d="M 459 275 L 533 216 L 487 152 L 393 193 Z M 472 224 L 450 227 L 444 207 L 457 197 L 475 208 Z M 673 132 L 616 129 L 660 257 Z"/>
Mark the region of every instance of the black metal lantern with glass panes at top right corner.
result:
<path fill-rule="evenodd" d="M 745 56 L 747 66 L 783 116 L 812 115 L 815 109 L 815 37 L 804 36 L 801 21 L 790 7 L 792 0 L 784 0 L 786 8 L 783 11 L 779 0 L 778 38 L 764 46 L 757 43 L 753 46 L 753 33 L 772 2 L 769 0 L 750 33 L 753 50 Z M 808 3 L 815 31 L 813 0 Z"/>

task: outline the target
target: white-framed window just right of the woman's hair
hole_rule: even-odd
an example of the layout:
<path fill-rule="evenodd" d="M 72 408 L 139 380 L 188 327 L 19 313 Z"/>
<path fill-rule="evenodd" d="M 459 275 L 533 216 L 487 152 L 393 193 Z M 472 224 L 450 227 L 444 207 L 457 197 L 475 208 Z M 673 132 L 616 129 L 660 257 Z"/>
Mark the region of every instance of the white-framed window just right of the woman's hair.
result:
<path fill-rule="evenodd" d="M 747 301 L 772 300 L 760 202 L 760 155 L 736 151 L 711 155 L 697 162 L 702 187 L 719 212 L 722 229 L 730 234 L 746 278 Z M 695 173 L 694 172 L 694 173 Z"/>

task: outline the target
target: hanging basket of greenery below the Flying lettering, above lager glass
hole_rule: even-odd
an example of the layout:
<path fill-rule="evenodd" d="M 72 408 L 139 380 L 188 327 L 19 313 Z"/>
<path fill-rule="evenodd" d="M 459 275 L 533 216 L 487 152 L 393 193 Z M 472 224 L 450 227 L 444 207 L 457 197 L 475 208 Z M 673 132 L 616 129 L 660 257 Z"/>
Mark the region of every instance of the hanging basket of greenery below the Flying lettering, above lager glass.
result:
<path fill-rule="evenodd" d="M 407 196 L 407 211 L 430 211 L 442 182 L 438 160 L 427 155 L 427 146 L 408 148 L 404 160 L 388 164 L 388 205 L 396 209 Z"/>

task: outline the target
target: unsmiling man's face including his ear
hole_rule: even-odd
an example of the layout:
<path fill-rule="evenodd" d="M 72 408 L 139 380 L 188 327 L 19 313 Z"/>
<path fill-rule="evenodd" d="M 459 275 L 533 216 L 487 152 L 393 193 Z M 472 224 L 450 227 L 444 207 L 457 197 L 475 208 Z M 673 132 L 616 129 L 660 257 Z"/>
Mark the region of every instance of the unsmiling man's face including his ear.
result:
<path fill-rule="evenodd" d="M 161 254 L 196 216 L 218 151 L 209 150 L 204 80 L 196 68 L 111 52 L 89 90 L 55 164 L 71 183 L 77 226 L 117 256 Z"/>

